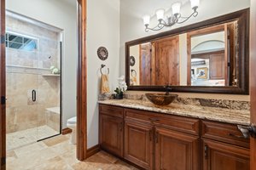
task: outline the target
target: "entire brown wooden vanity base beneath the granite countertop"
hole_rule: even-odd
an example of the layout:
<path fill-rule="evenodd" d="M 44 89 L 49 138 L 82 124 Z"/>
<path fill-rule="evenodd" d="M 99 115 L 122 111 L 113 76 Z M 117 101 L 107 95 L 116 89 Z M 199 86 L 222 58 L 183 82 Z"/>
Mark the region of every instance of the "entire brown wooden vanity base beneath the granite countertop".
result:
<path fill-rule="evenodd" d="M 235 124 L 100 105 L 103 150 L 148 170 L 249 170 Z"/>

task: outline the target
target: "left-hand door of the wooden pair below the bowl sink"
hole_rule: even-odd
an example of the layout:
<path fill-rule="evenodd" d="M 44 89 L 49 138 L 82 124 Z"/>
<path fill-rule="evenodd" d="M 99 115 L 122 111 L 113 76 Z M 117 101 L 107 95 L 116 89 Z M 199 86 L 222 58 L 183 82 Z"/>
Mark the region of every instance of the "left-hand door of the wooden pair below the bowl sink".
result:
<path fill-rule="evenodd" d="M 125 159 L 144 169 L 152 169 L 153 127 L 137 122 L 125 122 Z"/>

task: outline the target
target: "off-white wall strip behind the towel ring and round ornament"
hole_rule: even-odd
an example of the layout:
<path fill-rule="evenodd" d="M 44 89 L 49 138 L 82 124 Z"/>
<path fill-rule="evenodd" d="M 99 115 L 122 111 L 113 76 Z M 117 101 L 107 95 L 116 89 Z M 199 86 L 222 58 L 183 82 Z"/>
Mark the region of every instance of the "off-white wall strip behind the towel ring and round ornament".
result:
<path fill-rule="evenodd" d="M 98 144 L 98 105 L 97 97 L 100 84 L 100 67 L 107 65 L 110 70 L 109 86 L 117 85 L 119 77 L 119 0 L 88 0 L 87 1 L 87 133 L 88 148 Z M 97 57 L 97 48 L 108 48 L 108 59 Z"/>

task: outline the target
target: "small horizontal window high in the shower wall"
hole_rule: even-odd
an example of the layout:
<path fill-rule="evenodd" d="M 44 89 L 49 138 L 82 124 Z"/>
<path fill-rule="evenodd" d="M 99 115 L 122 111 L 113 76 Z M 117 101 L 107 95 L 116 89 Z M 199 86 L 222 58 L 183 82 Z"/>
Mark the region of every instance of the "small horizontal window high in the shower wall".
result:
<path fill-rule="evenodd" d="M 38 39 L 7 32 L 5 35 L 7 48 L 34 51 L 38 48 Z"/>

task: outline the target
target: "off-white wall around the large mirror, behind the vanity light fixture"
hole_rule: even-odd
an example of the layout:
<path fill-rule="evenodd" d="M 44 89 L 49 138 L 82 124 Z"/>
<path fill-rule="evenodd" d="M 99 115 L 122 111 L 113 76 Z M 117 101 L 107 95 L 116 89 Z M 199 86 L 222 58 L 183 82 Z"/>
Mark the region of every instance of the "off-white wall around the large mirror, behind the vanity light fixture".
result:
<path fill-rule="evenodd" d="M 140 37 L 147 37 L 152 34 L 157 34 L 160 31 L 149 31 L 148 33 L 144 31 L 143 26 L 143 15 L 151 14 L 151 20 L 156 20 L 154 12 L 157 8 L 166 8 L 168 10 L 172 3 L 176 1 L 167 0 L 124 0 L 121 1 L 120 5 L 120 74 L 125 74 L 125 42 L 135 40 Z M 129 8 L 128 8 L 129 7 Z M 196 18 L 191 18 L 182 25 L 173 26 L 171 29 L 187 26 L 196 22 L 201 22 L 203 20 L 208 20 L 223 14 L 229 14 L 235 12 L 242 8 L 249 8 L 250 0 L 201 0 L 200 7 L 198 8 L 198 16 Z M 170 12 L 170 10 L 168 11 Z M 188 0 L 183 0 L 183 6 L 181 8 L 181 13 L 184 16 L 188 16 L 192 12 L 190 8 L 190 3 Z M 171 30 L 170 28 L 163 29 L 162 31 Z M 209 94 L 184 94 L 187 97 L 199 97 L 206 96 L 211 97 Z M 249 100 L 249 96 L 232 95 L 234 99 Z M 216 99 L 230 99 L 230 95 L 218 94 Z"/>

